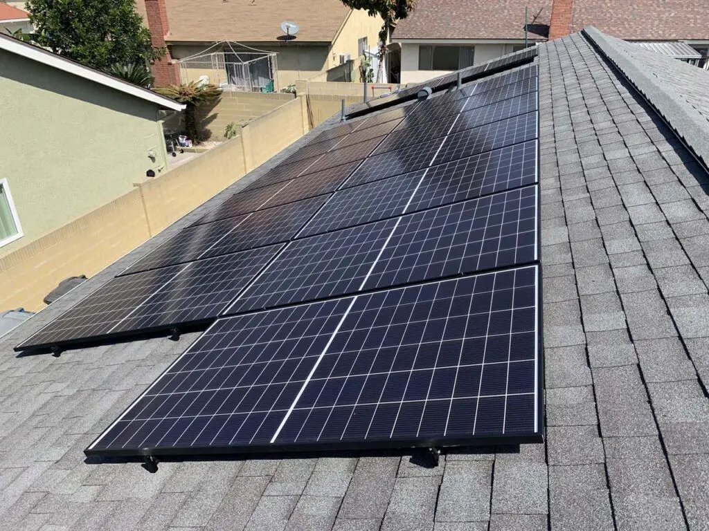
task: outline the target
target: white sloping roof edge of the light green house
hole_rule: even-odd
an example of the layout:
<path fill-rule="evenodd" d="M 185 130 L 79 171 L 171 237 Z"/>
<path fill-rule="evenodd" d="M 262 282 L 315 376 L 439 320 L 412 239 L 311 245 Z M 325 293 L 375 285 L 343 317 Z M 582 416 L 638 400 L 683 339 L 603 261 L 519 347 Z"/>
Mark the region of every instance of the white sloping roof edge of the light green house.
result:
<path fill-rule="evenodd" d="M 8 35 L 0 35 L 0 50 L 21 55 L 27 59 L 45 64 L 48 67 L 74 74 L 74 76 L 89 79 L 89 81 L 94 81 L 94 83 L 108 86 L 111 89 L 129 94 L 130 96 L 135 96 L 135 98 L 150 101 L 150 103 L 155 103 L 162 108 L 169 110 L 184 110 L 186 108 L 186 105 L 160 96 L 160 94 L 149 89 L 144 89 L 142 86 L 128 83 L 128 81 L 123 81 L 123 79 L 119 79 L 116 76 L 105 74 L 100 70 L 85 67 L 83 64 L 72 61 L 72 59 L 67 59 L 66 57 L 44 50 L 43 48 L 9 37 Z"/>

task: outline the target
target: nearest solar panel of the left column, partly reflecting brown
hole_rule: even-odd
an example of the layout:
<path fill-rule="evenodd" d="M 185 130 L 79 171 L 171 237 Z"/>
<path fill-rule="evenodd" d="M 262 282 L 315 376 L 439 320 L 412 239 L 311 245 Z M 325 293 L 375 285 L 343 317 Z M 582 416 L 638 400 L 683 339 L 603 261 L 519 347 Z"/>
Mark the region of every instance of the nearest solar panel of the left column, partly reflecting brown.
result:
<path fill-rule="evenodd" d="M 17 350 L 213 319 L 282 248 L 262 247 L 114 278 Z"/>

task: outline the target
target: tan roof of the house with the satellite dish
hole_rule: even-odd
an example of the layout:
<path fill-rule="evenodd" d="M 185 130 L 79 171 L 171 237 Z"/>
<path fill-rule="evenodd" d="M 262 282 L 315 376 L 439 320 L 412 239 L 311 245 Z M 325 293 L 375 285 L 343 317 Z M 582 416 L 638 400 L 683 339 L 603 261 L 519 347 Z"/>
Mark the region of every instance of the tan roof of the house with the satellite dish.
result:
<path fill-rule="evenodd" d="M 165 4 L 168 42 L 274 42 L 284 35 L 282 21 L 300 26 L 297 41 L 330 42 L 349 12 L 340 0 L 166 0 Z M 141 8 L 144 14 L 145 6 Z"/>

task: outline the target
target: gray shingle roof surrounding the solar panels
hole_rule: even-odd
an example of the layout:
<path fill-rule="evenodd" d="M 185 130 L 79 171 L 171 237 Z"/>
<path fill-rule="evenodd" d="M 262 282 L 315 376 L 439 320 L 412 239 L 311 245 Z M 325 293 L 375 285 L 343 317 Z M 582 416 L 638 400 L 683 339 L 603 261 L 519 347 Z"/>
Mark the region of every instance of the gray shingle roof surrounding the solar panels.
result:
<path fill-rule="evenodd" d="M 86 445 L 197 335 L 60 358 L 16 358 L 13 346 L 264 165 L 0 339 L 3 526 L 709 527 L 709 122 L 696 91 L 709 74 L 590 28 L 540 46 L 537 62 L 544 444 L 454 449 L 430 469 L 406 451 L 174 459 L 157 474 L 86 459 Z"/>

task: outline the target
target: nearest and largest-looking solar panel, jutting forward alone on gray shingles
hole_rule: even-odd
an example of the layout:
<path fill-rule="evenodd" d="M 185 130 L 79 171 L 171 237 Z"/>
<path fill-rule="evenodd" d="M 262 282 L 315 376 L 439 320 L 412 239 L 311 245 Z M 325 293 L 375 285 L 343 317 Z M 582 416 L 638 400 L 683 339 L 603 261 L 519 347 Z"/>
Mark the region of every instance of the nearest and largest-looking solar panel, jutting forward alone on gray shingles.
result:
<path fill-rule="evenodd" d="M 87 455 L 538 442 L 538 266 L 219 319 Z"/>

